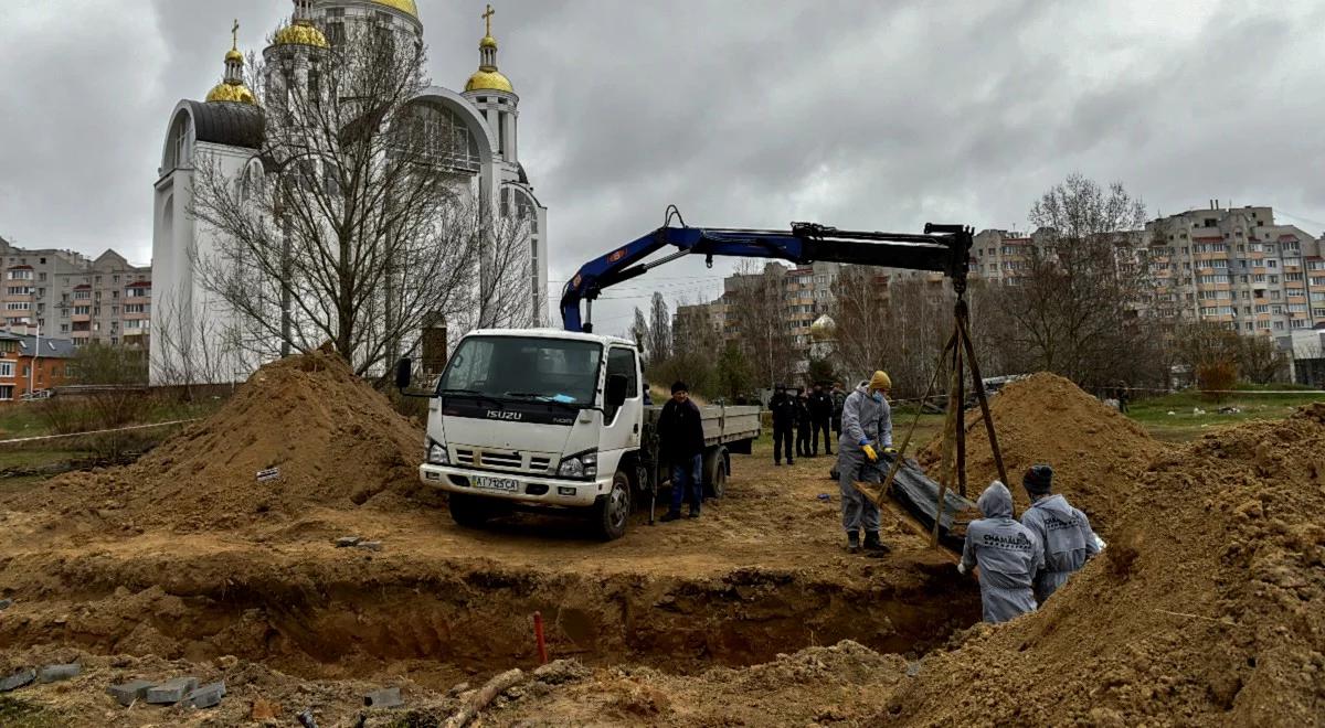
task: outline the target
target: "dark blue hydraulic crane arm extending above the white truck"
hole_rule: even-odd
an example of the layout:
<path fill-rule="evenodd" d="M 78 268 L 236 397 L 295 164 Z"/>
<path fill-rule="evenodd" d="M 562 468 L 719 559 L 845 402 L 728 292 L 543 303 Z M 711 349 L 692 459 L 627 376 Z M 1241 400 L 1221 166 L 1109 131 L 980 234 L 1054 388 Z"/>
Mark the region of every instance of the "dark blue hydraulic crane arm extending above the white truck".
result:
<path fill-rule="evenodd" d="M 680 217 L 680 216 L 677 216 Z M 670 212 L 668 218 L 670 220 Z M 677 250 L 644 262 L 653 253 Z M 872 265 L 906 270 L 930 270 L 953 279 L 966 291 L 970 269 L 971 229 L 962 225 L 925 225 L 925 234 L 839 230 L 812 222 L 792 222 L 791 230 L 741 230 L 725 228 L 664 226 L 616 250 L 584 263 L 562 290 L 562 322 L 567 331 L 592 331 L 580 318 L 580 302 L 591 307 L 604 289 L 643 275 L 682 255 L 775 258 L 808 265 L 816 261 Z M 592 308 L 590 308 L 591 311 Z"/>

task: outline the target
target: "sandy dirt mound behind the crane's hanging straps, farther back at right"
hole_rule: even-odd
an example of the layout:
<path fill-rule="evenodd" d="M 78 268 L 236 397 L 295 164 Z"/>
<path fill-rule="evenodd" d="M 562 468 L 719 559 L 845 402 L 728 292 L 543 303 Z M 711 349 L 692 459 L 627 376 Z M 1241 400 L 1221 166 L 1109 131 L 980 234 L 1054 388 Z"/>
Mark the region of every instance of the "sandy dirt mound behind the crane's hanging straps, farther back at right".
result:
<path fill-rule="evenodd" d="M 1053 487 L 1108 533 L 1136 478 L 1165 446 L 1130 418 L 1105 406 L 1057 375 L 1037 373 L 990 397 L 1008 490 L 1018 510 L 1030 506 L 1022 474 L 1035 463 L 1053 466 Z M 921 465 L 938 473 L 942 434 L 921 451 Z M 998 478 L 994 453 L 977 408 L 966 416 L 967 496 Z"/>

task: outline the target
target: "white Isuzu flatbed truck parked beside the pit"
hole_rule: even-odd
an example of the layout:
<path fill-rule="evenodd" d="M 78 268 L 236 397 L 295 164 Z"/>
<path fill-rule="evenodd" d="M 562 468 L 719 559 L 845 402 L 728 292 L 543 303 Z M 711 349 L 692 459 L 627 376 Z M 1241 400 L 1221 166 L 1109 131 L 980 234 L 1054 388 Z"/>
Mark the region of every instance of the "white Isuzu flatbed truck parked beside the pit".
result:
<path fill-rule="evenodd" d="M 401 361 L 396 383 L 409 384 Z M 428 405 L 420 479 L 468 527 L 518 508 L 582 512 L 607 540 L 670 479 L 636 345 L 555 330 L 480 330 L 456 345 Z M 759 408 L 704 406 L 704 482 L 721 498 Z"/>

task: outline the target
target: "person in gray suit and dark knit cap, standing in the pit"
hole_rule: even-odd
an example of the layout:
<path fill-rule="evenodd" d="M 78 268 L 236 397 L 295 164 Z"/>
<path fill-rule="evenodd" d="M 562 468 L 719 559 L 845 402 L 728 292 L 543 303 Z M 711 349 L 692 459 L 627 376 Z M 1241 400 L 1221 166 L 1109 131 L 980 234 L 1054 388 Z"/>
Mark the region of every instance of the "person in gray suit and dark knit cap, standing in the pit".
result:
<path fill-rule="evenodd" d="M 1022 486 L 1031 498 L 1031 507 L 1022 514 L 1022 525 L 1044 544 L 1044 570 L 1035 577 L 1035 601 L 1044 600 L 1067 584 L 1068 577 L 1100 553 L 1100 541 L 1090 529 L 1090 519 L 1072 507 L 1053 488 L 1053 469 L 1031 466 L 1022 477 Z"/>

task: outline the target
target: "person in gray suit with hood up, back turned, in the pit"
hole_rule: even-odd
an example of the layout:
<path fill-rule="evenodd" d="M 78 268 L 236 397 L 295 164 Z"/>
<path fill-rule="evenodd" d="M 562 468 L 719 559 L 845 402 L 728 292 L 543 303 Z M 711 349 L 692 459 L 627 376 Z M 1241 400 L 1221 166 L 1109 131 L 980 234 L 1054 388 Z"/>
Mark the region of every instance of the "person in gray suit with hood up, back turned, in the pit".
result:
<path fill-rule="evenodd" d="M 1012 518 L 1012 494 L 999 480 L 990 483 L 975 506 L 984 515 L 966 527 L 959 573 L 980 568 L 980 605 L 986 622 L 1007 622 L 1035 612 L 1032 584 L 1044 568 L 1044 545 Z"/>

